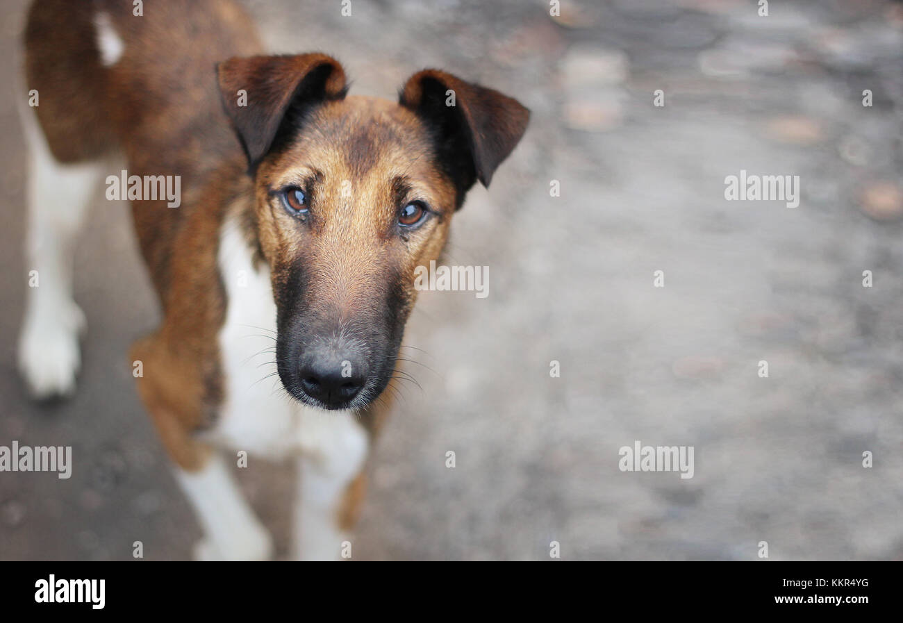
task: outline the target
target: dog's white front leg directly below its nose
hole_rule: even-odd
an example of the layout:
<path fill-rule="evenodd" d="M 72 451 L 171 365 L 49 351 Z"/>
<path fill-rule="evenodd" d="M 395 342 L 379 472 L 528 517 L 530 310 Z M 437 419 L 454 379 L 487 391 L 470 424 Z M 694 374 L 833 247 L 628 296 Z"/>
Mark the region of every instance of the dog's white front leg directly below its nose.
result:
<path fill-rule="evenodd" d="M 347 500 L 359 497 L 369 435 L 354 414 L 304 409 L 296 459 L 293 556 L 341 560 L 351 556 Z"/>

